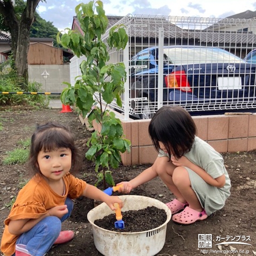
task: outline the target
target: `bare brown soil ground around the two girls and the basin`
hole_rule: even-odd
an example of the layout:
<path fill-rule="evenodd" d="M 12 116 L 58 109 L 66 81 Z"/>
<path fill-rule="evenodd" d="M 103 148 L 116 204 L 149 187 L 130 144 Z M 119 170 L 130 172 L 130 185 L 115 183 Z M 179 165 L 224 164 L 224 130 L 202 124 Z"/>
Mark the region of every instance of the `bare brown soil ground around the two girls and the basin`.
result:
<path fill-rule="evenodd" d="M 20 147 L 18 141 L 30 138 L 36 123 L 59 121 L 71 127 L 76 135 L 76 143 L 83 153 L 90 133 L 74 113 L 59 113 L 59 110 L 10 110 L 0 111 L 0 238 L 4 219 L 8 216 L 7 204 L 19 191 L 20 181 L 27 178 L 27 165 L 3 165 L 7 151 Z M 222 154 L 229 172 L 232 189 L 225 207 L 215 216 L 205 221 L 184 226 L 172 221 L 168 223 L 166 243 L 158 256 L 202 256 L 256 255 L 256 151 Z M 114 170 L 115 182 L 130 180 L 149 165 L 120 166 Z M 86 159 L 83 161 L 80 178 L 90 184 L 95 182 L 94 166 Z M 162 202 L 169 202 L 174 197 L 160 179 L 155 178 L 135 189 L 132 194 L 145 195 Z M 66 244 L 54 246 L 47 256 L 101 256 L 94 246 L 93 233 L 87 220 L 87 213 L 94 207 L 94 202 L 87 198 L 75 201 L 72 216 L 63 222 L 64 229 L 75 232 L 74 239 Z M 199 248 L 198 235 L 211 234 L 212 248 Z M 232 240 L 232 241 L 231 241 Z M 223 242 L 241 242 L 247 244 L 226 244 Z M 222 252 L 206 250 L 222 249 Z M 120 255 L 121 249 L 120 249 Z"/>

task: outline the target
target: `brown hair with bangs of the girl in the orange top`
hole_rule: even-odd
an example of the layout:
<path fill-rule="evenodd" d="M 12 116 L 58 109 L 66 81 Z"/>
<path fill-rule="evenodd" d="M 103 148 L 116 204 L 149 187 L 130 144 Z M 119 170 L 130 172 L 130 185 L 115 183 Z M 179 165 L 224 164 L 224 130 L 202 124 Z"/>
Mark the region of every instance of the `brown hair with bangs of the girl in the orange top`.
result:
<path fill-rule="evenodd" d="M 57 148 L 69 148 L 72 153 L 72 172 L 77 172 L 81 168 L 81 155 L 74 143 L 74 135 L 66 126 L 47 122 L 44 125 L 37 126 L 36 131 L 31 138 L 29 167 L 34 174 L 39 173 L 37 156 L 40 150 L 54 150 Z"/>

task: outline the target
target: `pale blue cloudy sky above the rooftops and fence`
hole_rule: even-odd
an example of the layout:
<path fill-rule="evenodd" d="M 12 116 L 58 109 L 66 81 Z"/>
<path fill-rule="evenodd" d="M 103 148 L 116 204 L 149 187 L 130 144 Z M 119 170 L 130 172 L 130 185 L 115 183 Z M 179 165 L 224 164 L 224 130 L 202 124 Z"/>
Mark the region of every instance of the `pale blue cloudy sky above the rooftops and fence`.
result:
<path fill-rule="evenodd" d="M 256 10 L 255 0 L 101 0 L 107 15 L 127 14 L 225 18 L 247 10 Z M 71 28 L 75 7 L 89 0 L 47 0 L 37 12 L 59 30 Z"/>

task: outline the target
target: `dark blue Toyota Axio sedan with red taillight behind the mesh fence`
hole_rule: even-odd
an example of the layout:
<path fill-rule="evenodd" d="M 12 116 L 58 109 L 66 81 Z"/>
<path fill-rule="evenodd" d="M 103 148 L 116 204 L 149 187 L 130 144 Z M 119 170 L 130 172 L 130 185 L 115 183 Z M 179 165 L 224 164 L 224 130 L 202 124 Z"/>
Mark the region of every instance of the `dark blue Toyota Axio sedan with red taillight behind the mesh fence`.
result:
<path fill-rule="evenodd" d="M 168 46 L 161 53 L 150 47 L 131 60 L 132 107 L 140 118 L 157 109 L 159 74 L 163 105 L 190 112 L 256 107 L 256 65 L 218 47 Z"/>

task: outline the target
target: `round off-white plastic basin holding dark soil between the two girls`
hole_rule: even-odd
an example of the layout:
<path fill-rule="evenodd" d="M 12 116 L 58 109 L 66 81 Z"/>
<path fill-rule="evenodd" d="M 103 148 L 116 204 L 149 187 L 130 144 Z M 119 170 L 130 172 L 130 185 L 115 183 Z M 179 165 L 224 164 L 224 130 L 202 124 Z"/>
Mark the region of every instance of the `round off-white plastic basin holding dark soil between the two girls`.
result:
<path fill-rule="evenodd" d="M 167 215 L 166 221 L 155 229 L 141 232 L 117 232 L 94 224 L 95 220 L 102 219 L 114 212 L 106 203 L 88 212 L 88 221 L 92 224 L 94 245 L 96 249 L 104 256 L 154 256 L 165 244 L 167 223 L 171 219 L 170 209 L 159 200 L 141 195 L 120 195 L 125 202 L 122 212 L 128 210 L 145 209 L 148 206 L 155 206 L 158 209 L 164 209 Z M 125 213 L 122 214 L 123 216 Z M 114 223 L 113 223 L 114 225 Z"/>

